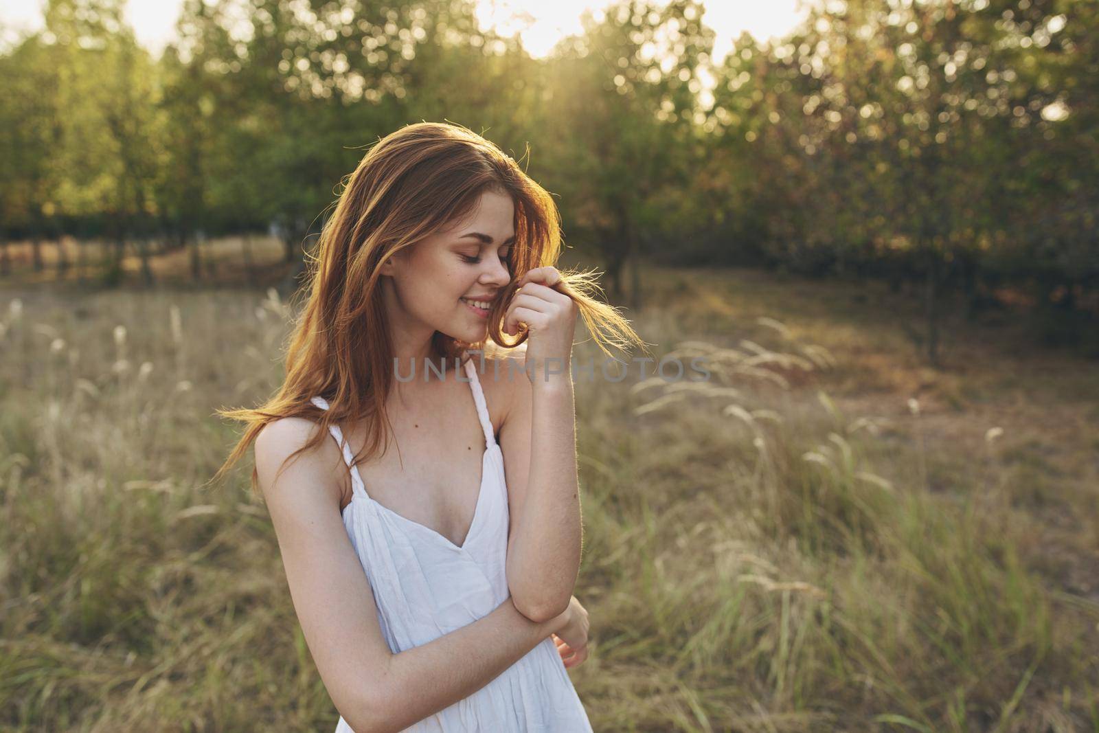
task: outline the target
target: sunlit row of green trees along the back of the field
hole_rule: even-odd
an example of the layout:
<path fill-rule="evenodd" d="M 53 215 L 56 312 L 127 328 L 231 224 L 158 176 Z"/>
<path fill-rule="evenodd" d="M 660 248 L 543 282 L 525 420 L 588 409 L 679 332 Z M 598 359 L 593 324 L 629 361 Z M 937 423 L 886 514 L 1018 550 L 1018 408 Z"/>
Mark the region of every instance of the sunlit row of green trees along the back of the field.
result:
<path fill-rule="evenodd" d="M 723 59 L 698 0 L 619 0 L 546 58 L 471 0 L 188 0 L 154 59 L 122 4 L 51 0 L 0 55 L 0 241 L 274 226 L 300 262 L 366 147 L 449 119 L 634 306 L 644 257 L 910 284 L 932 358 L 954 293 L 1096 313 L 1092 0 L 820 0 Z"/>

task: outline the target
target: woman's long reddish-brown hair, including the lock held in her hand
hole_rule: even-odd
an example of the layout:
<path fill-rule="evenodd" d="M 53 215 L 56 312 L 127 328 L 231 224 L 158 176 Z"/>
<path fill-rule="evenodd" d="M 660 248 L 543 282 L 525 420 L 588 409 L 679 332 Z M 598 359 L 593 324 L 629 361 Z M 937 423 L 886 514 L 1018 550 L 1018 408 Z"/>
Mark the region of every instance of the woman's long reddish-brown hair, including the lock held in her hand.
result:
<path fill-rule="evenodd" d="M 560 216 L 550 193 L 499 147 L 452 123 L 410 124 L 378 141 L 363 157 L 325 222 L 299 293 L 304 308 L 289 335 L 286 378 L 278 391 L 255 409 L 218 410 L 246 423 L 244 435 L 211 479 L 222 477 L 247 451 L 263 427 L 279 418 L 301 417 L 321 430 L 298 453 L 320 445 L 328 427 L 366 421 L 359 463 L 385 445 L 385 399 L 393 381 L 392 345 L 382 309 L 380 265 L 404 247 L 464 220 L 486 190 L 510 196 L 515 209 L 515 243 L 508 256 L 512 279 L 489 314 L 485 341 L 468 344 L 436 332 L 432 356 L 465 360 L 470 349 L 508 344 L 502 320 L 515 284 L 530 269 L 554 265 L 560 255 Z M 591 273 L 563 271 L 557 286 L 578 307 L 599 347 L 624 348 L 644 342 L 629 322 L 592 297 L 600 290 Z M 487 342 L 491 340 L 491 344 Z M 313 396 L 330 409 L 315 407 Z M 253 468 L 252 488 L 257 489 Z"/>

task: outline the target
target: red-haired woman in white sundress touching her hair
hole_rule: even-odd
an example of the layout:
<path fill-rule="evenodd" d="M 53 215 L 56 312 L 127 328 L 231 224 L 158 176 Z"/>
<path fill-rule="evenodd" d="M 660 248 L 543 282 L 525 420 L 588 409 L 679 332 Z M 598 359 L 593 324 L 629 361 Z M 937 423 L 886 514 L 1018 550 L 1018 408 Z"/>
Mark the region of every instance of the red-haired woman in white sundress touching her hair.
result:
<path fill-rule="evenodd" d="M 406 126 L 324 226 L 282 386 L 221 411 L 248 426 L 219 475 L 255 441 L 337 731 L 591 730 L 566 671 L 588 641 L 576 315 L 604 353 L 642 342 L 559 252 L 553 200 L 514 160 Z"/>

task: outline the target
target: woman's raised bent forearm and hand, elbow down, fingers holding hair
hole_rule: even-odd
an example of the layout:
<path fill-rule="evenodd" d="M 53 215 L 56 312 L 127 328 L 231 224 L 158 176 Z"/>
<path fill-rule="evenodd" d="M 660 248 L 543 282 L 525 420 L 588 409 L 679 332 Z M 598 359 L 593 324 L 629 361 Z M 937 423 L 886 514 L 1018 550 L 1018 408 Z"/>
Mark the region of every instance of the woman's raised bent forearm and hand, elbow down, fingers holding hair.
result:
<path fill-rule="evenodd" d="M 530 329 L 525 368 L 508 359 L 499 377 L 510 382 L 500 429 L 511 514 L 508 589 L 532 621 L 568 608 L 582 542 L 570 358 L 577 310 L 571 298 L 540 284 L 552 286 L 556 278 L 552 267 L 524 277 L 504 327 L 513 331 L 522 321 Z"/>

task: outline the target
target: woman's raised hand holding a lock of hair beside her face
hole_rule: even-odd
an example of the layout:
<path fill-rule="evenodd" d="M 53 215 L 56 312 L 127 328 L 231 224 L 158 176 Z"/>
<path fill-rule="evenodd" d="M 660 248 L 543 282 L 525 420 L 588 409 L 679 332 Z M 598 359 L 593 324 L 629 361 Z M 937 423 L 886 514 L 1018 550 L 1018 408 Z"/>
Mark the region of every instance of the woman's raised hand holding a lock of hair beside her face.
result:
<path fill-rule="evenodd" d="M 532 380 L 548 381 L 546 364 L 553 360 L 555 370 L 571 382 L 573 338 L 579 307 L 564 292 L 554 289 L 560 282 L 555 267 L 535 267 L 523 275 L 503 316 L 503 332 L 519 334 L 530 331 L 526 346 L 526 375 Z M 533 368 L 533 370 L 532 370 Z"/>

